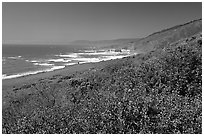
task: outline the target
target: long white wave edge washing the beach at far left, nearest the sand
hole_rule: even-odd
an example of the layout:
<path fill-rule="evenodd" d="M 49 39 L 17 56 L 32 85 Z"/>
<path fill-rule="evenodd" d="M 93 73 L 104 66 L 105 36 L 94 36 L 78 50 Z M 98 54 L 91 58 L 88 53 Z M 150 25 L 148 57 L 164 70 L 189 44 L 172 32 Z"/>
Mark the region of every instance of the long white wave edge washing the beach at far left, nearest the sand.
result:
<path fill-rule="evenodd" d="M 3 74 L 2 79 L 4 80 L 4 79 L 18 78 L 18 77 L 28 76 L 28 75 L 35 75 L 35 74 L 38 74 L 38 73 L 50 72 L 50 71 L 54 71 L 54 70 L 57 70 L 57 69 L 63 69 L 64 67 L 65 66 L 54 66 L 51 69 L 30 71 L 30 72 L 19 73 L 19 74 L 9 75 L 9 76 L 7 76 L 6 74 Z"/>

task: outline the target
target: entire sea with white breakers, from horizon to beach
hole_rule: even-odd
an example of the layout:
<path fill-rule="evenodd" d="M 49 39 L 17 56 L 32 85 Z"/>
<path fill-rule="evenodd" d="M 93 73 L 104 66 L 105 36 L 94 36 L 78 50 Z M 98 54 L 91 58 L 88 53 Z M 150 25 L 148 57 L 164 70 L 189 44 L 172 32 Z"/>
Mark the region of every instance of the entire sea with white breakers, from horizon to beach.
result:
<path fill-rule="evenodd" d="M 2 79 L 17 78 L 130 56 L 129 50 L 93 49 L 73 45 L 2 45 Z"/>

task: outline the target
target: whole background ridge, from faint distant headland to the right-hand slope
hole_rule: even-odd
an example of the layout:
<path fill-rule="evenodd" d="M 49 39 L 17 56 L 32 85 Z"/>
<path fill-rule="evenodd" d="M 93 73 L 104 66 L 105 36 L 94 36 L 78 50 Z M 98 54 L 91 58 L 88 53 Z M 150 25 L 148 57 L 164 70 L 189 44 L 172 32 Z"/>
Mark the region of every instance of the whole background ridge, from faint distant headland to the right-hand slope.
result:
<path fill-rule="evenodd" d="M 154 50 L 155 46 L 164 46 L 183 38 L 188 38 L 202 31 L 202 19 L 193 20 L 185 24 L 177 25 L 168 29 L 155 32 L 145 38 L 116 39 L 87 41 L 78 40 L 71 42 L 72 45 L 86 45 L 96 48 L 129 48 L 136 52 Z"/>

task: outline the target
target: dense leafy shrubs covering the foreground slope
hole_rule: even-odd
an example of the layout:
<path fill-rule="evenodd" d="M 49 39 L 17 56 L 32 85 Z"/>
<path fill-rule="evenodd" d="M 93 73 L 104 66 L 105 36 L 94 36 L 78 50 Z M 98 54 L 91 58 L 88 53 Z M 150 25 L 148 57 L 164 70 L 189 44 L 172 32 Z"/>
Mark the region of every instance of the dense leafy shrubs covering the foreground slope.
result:
<path fill-rule="evenodd" d="M 10 99 L 3 133 L 202 133 L 202 40 L 158 46 Z"/>

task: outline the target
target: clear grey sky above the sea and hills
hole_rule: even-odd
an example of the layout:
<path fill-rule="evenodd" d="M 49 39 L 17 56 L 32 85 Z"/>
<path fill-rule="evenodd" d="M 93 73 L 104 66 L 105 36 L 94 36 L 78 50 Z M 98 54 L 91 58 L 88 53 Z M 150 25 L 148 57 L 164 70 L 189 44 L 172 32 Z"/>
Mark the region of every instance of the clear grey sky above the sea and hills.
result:
<path fill-rule="evenodd" d="M 3 3 L 3 43 L 141 38 L 202 18 L 200 3 Z"/>

